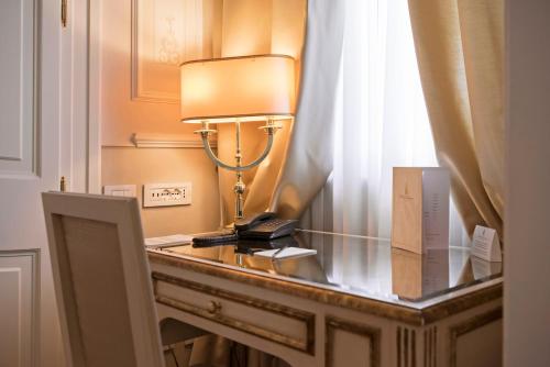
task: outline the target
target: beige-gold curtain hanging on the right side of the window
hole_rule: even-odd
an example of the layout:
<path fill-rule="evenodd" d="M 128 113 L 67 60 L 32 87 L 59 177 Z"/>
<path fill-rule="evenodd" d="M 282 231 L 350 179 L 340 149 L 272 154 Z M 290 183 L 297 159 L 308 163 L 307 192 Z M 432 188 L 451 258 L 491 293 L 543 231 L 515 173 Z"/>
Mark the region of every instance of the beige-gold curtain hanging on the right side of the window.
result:
<path fill-rule="evenodd" d="M 409 0 L 438 160 L 472 234 L 503 234 L 503 0 Z"/>

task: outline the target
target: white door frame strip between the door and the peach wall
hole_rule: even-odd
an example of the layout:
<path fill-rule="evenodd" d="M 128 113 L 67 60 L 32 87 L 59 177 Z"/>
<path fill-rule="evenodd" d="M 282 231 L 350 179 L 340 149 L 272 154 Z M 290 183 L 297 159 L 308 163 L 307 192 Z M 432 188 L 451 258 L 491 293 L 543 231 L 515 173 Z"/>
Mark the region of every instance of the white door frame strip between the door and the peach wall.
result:
<path fill-rule="evenodd" d="M 68 178 L 68 191 L 101 193 L 101 120 L 100 111 L 100 34 L 101 0 L 68 2 L 67 27 L 64 29 L 63 63 L 70 70 L 63 80 L 63 100 L 70 104 L 64 111 L 73 144 L 64 162 L 62 176 Z"/>

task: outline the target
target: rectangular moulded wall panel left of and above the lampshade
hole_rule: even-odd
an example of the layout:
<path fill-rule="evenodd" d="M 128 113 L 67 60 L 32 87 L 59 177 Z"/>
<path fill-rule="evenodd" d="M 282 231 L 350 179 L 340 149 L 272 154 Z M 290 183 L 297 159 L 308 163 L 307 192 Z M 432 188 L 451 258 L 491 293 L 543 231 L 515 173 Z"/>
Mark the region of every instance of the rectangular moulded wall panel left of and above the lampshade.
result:
<path fill-rule="evenodd" d="M 133 0 L 133 100 L 179 103 L 179 64 L 211 57 L 202 18 L 202 0 Z"/>

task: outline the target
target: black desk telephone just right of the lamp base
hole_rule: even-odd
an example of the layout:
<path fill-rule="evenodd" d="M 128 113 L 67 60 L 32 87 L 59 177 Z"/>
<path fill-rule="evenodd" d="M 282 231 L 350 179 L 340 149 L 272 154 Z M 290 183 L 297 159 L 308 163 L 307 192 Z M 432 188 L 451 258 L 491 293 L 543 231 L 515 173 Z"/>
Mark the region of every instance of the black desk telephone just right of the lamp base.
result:
<path fill-rule="evenodd" d="M 273 240 L 293 234 L 297 220 L 278 219 L 275 213 L 262 212 L 235 222 L 239 238 Z"/>

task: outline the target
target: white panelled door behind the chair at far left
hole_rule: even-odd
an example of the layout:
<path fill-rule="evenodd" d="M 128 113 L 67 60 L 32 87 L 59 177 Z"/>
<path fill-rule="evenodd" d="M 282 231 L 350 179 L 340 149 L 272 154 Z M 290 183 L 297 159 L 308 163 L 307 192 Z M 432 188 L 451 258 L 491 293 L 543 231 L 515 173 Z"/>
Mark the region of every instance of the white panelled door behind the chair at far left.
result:
<path fill-rule="evenodd" d="M 59 187 L 59 0 L 0 2 L 0 366 L 63 366 L 41 192 Z M 63 143 L 63 144 L 62 144 Z"/>

